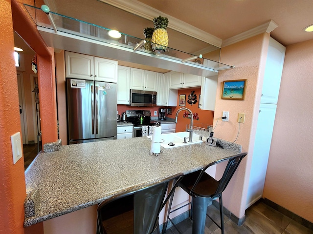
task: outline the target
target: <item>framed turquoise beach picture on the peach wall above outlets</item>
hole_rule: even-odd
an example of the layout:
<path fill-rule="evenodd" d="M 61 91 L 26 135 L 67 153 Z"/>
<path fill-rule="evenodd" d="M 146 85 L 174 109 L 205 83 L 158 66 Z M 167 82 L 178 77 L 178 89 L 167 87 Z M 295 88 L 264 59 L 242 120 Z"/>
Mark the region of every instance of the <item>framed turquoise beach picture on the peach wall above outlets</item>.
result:
<path fill-rule="evenodd" d="M 222 99 L 245 100 L 246 79 L 235 79 L 223 81 Z"/>

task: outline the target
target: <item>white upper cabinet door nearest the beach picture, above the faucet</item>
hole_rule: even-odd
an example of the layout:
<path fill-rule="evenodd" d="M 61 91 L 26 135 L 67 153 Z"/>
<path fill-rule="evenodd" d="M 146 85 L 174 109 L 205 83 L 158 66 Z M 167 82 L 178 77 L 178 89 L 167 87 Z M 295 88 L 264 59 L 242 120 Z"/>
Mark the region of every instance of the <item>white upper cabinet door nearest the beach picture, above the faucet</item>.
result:
<path fill-rule="evenodd" d="M 201 84 L 200 109 L 215 110 L 218 76 L 203 77 Z"/>

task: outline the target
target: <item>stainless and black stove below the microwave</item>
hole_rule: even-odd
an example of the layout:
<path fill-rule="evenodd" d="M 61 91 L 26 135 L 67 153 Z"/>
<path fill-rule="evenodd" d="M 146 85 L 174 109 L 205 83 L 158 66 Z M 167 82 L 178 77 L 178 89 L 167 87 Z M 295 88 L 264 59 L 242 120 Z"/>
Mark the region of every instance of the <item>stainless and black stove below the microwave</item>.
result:
<path fill-rule="evenodd" d="M 152 127 L 159 123 L 151 120 L 150 111 L 126 111 L 126 119 L 134 124 L 133 137 L 145 137 L 152 135 Z"/>

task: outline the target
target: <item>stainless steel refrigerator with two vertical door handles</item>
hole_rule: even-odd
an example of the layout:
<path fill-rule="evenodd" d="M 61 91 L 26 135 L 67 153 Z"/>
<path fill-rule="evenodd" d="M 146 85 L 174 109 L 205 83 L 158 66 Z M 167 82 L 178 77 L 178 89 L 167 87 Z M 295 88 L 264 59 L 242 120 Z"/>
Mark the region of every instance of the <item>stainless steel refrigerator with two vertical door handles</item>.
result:
<path fill-rule="evenodd" d="M 67 78 L 68 143 L 116 139 L 117 85 Z"/>

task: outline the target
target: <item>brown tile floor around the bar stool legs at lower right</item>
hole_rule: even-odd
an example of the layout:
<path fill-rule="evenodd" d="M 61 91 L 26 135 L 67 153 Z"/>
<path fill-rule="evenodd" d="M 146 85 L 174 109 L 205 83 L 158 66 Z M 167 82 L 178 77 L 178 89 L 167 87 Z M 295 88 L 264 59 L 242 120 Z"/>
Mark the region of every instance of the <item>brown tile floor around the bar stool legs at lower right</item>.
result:
<path fill-rule="evenodd" d="M 208 214 L 214 220 L 220 220 L 219 210 L 213 205 L 208 207 Z M 182 234 L 192 234 L 192 223 L 188 219 L 178 225 Z M 263 202 L 257 202 L 246 210 L 246 221 L 242 226 L 237 226 L 232 220 L 224 216 L 225 234 L 313 234 L 313 231 L 293 221 L 269 207 Z M 174 227 L 167 230 L 166 234 L 178 234 Z M 206 218 L 205 234 L 221 234 L 221 230 L 211 219 Z"/>

